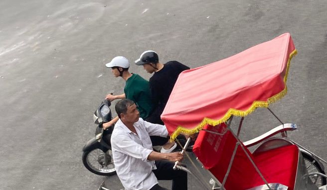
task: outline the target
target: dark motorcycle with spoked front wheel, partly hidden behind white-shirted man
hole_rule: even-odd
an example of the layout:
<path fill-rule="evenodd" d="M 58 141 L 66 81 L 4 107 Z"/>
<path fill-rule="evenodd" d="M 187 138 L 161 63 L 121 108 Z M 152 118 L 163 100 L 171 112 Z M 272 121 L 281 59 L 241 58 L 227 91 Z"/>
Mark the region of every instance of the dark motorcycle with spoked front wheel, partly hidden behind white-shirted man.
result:
<path fill-rule="evenodd" d="M 82 161 L 85 168 L 101 176 L 110 176 L 116 173 L 110 144 L 114 126 L 106 130 L 102 128 L 103 123 L 112 119 L 110 105 L 111 102 L 105 99 L 94 112 L 93 119 L 97 125 L 95 137 L 83 147 Z"/>

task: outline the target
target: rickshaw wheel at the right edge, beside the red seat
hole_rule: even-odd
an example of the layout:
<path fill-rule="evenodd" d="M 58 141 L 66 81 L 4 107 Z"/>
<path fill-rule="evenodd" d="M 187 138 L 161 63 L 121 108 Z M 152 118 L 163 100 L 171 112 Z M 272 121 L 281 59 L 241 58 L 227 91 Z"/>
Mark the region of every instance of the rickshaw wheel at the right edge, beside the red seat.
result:
<path fill-rule="evenodd" d="M 309 174 L 313 172 L 319 172 L 325 174 L 325 171 L 321 168 L 321 166 L 315 160 L 315 158 L 305 153 L 303 153 L 302 155 L 306 163 L 306 167 Z M 326 178 L 324 178 L 323 176 L 314 175 L 314 176 L 310 176 L 310 179 L 317 187 L 326 185 Z"/>

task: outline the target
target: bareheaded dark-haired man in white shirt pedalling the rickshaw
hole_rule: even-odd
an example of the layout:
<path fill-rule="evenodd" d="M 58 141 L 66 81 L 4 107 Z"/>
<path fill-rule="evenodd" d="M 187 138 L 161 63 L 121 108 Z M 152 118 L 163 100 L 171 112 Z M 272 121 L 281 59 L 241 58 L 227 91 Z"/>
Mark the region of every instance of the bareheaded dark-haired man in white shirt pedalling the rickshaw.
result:
<path fill-rule="evenodd" d="M 158 185 L 158 180 L 172 180 L 171 190 L 187 190 L 186 172 L 172 169 L 183 155 L 153 151 L 150 135 L 167 137 L 165 126 L 140 118 L 132 100 L 120 100 L 115 109 L 119 120 L 111 136 L 111 146 L 117 175 L 125 189 L 166 190 Z"/>

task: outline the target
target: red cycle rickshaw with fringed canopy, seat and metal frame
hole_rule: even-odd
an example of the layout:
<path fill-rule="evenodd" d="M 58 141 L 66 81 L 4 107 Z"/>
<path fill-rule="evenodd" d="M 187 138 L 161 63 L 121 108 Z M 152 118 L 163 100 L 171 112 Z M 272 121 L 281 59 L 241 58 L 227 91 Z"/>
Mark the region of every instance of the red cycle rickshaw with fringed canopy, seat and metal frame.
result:
<path fill-rule="evenodd" d="M 296 53 L 291 35 L 285 33 L 178 77 L 162 119 L 172 140 L 181 133 L 198 135 L 192 150 L 210 172 L 210 189 L 327 190 L 327 162 L 288 138 L 287 132 L 297 125 L 282 122 L 269 107 L 287 94 Z M 268 108 L 281 125 L 243 142 L 243 119 L 259 107 Z M 231 128 L 234 116 L 241 117 L 237 132 Z M 182 150 L 187 157 L 190 141 Z M 250 151 L 252 146 L 256 148 Z M 177 162 L 174 169 L 192 174 Z"/>

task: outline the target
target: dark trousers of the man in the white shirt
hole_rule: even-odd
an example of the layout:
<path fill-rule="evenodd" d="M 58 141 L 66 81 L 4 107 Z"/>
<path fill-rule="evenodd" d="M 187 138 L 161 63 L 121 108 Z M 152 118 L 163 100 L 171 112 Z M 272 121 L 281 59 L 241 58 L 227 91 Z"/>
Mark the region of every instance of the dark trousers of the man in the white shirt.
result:
<path fill-rule="evenodd" d="M 160 160 L 155 161 L 157 170 L 152 172 L 158 180 L 172 180 L 171 190 L 187 190 L 187 173 L 182 170 L 173 170 L 174 163 Z M 158 184 L 150 190 L 166 190 Z"/>

